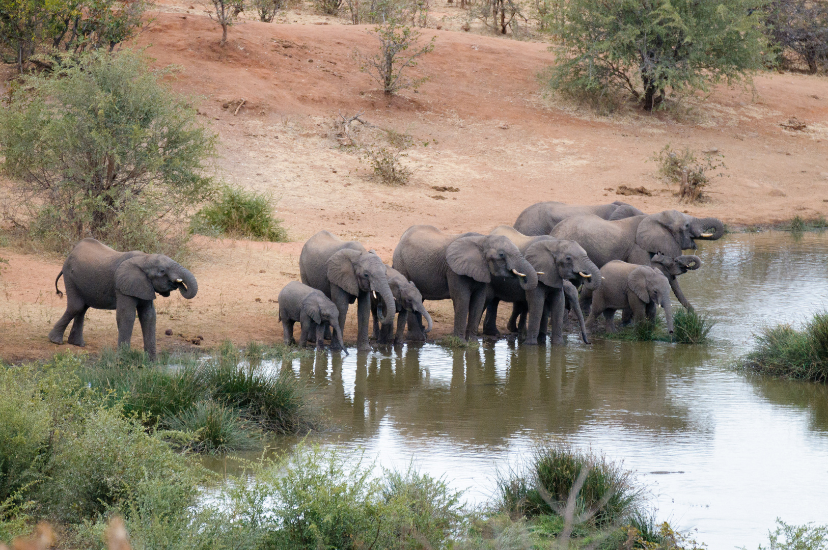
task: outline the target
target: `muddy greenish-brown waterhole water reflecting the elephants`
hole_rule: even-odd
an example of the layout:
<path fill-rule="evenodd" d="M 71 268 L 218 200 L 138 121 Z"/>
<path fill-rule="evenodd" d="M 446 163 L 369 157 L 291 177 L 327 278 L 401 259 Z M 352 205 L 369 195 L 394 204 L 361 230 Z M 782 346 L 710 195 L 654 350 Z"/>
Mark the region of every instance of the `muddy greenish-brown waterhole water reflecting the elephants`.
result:
<path fill-rule="evenodd" d="M 537 441 L 570 441 L 623 460 L 659 518 L 715 549 L 756 548 L 777 516 L 828 523 L 826 387 L 733 369 L 760 327 L 828 309 L 828 235 L 733 234 L 698 253 L 702 268 L 681 286 L 717 321 L 710 344 L 570 335 L 546 347 L 319 354 L 290 367 L 338 428 L 316 439 L 383 466 L 413 461 L 472 502 Z"/>

